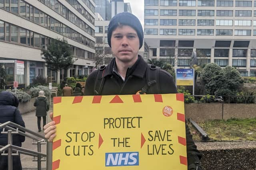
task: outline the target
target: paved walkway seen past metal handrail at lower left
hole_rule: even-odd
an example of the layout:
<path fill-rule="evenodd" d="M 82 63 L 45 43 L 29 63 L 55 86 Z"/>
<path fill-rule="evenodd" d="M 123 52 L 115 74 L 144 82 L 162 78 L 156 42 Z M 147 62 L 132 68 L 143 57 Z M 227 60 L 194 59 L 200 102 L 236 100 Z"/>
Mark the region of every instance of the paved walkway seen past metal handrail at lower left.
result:
<path fill-rule="evenodd" d="M 52 107 L 50 107 L 50 111 L 48 111 L 48 114 L 50 114 L 50 112 L 52 112 Z M 32 111 L 22 115 L 22 118 L 25 122 L 25 126 L 27 129 L 30 129 L 38 133 L 39 135 L 44 136 L 43 131 L 38 132 L 36 111 Z M 50 117 L 48 117 L 48 120 L 50 121 Z M 41 118 L 41 128 L 43 127 L 42 121 L 43 120 Z M 22 147 L 37 151 L 37 145 L 32 145 L 32 143 L 33 143 L 33 139 L 26 137 L 25 142 L 22 143 Z M 42 153 L 46 154 L 46 145 L 42 145 L 41 150 L 42 150 Z M 35 168 L 37 169 L 37 162 L 36 161 L 34 162 L 33 159 L 34 159 L 33 156 L 21 154 L 22 169 L 23 170 L 35 170 Z M 46 170 L 46 162 L 42 162 L 42 170 Z"/>

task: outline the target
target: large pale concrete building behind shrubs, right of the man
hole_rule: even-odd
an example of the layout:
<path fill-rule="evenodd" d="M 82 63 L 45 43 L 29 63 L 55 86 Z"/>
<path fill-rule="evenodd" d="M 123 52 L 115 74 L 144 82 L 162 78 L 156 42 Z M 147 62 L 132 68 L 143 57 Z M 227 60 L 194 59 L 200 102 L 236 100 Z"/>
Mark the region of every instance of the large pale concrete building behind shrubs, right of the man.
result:
<path fill-rule="evenodd" d="M 189 68 L 234 66 L 256 76 L 256 0 L 145 0 L 144 38 L 150 58 Z"/>

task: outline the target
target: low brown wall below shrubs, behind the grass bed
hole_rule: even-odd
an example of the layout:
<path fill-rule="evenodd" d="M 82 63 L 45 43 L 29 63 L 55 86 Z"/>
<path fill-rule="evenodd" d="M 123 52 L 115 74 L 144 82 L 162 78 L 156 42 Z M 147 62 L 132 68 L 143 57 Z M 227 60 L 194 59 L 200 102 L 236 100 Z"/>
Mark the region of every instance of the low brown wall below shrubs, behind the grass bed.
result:
<path fill-rule="evenodd" d="M 254 118 L 256 117 L 256 104 L 223 104 L 222 103 L 190 103 L 185 104 L 186 118 L 194 121 L 229 118 Z"/>

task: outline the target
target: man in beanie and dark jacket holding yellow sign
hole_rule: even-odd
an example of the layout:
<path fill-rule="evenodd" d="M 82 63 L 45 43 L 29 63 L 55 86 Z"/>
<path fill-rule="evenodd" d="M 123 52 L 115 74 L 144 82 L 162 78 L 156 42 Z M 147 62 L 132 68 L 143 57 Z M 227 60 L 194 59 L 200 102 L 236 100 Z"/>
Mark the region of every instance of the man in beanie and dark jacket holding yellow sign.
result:
<path fill-rule="evenodd" d="M 159 70 L 159 86 L 148 87 L 148 64 L 138 55 L 143 44 L 143 29 L 138 18 L 128 12 L 117 14 L 108 25 L 108 45 L 115 58 L 106 67 L 92 72 L 86 81 L 85 95 L 136 94 L 140 91 L 147 94 L 177 93 L 173 77 L 164 70 Z M 154 68 L 152 68 L 154 69 Z M 146 86 L 145 86 L 146 85 Z M 50 122 L 45 126 L 45 137 L 52 141 L 56 126 Z M 201 153 L 196 149 L 189 128 L 186 125 L 188 170 L 201 170 L 199 160 Z"/>

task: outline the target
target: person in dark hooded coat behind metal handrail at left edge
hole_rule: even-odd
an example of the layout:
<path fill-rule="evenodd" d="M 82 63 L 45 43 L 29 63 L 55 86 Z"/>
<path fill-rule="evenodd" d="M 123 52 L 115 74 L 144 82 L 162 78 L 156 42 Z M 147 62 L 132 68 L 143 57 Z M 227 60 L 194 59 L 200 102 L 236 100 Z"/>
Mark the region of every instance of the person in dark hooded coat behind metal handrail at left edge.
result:
<path fill-rule="evenodd" d="M 25 123 L 18 110 L 19 100 L 12 93 L 7 91 L 0 92 L 0 123 L 12 121 L 18 125 L 25 127 Z M 2 131 L 2 128 L 0 128 Z M 21 143 L 25 141 L 22 135 L 12 135 L 12 144 L 21 147 Z M 8 144 L 7 134 L 0 133 L 0 145 L 5 146 Z M 20 162 L 20 155 L 12 156 L 13 170 L 22 170 Z M 0 154 L 0 170 L 8 170 L 8 157 Z"/>

